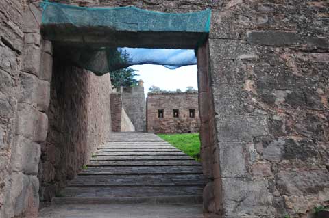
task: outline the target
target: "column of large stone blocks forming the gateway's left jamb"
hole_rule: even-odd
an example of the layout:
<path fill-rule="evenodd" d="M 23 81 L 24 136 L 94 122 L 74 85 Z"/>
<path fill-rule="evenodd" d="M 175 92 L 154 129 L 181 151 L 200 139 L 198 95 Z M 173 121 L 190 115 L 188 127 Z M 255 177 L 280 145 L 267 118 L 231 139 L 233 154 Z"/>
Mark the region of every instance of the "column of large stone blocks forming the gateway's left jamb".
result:
<path fill-rule="evenodd" d="M 18 78 L 16 131 L 10 160 L 11 184 L 4 217 L 37 217 L 37 178 L 41 146 L 47 137 L 52 47 L 41 39 L 42 11 L 37 3 L 24 12 L 24 46 Z"/>

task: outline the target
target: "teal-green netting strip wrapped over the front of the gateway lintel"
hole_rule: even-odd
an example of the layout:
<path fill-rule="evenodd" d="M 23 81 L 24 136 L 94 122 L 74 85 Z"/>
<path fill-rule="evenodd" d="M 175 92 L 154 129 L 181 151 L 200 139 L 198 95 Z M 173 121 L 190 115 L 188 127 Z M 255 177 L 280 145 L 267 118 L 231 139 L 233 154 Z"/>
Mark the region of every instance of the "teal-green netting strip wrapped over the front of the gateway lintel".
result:
<path fill-rule="evenodd" d="M 42 2 L 42 24 L 71 23 L 77 27 L 111 27 L 117 31 L 187 31 L 208 33 L 210 10 L 186 14 L 151 12 L 133 6 L 84 8 Z"/>

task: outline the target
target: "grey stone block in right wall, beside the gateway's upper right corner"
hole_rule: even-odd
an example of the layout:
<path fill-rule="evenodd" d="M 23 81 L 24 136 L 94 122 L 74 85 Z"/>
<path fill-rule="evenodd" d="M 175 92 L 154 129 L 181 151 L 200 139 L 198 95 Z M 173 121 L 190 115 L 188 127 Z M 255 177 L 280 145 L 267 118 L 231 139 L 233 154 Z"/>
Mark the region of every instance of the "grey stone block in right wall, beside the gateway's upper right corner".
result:
<path fill-rule="evenodd" d="M 243 40 L 209 39 L 210 59 L 239 59 L 241 55 L 256 55 L 256 48 Z"/>

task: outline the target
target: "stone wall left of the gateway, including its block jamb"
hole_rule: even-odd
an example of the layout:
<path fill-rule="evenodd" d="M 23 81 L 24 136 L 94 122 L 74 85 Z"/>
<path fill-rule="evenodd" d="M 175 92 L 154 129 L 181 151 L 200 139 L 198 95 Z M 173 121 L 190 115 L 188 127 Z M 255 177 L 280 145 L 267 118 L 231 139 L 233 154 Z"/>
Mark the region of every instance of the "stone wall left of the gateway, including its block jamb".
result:
<path fill-rule="evenodd" d="M 36 5 L 4 0 L 0 11 L 0 217 L 36 217 L 51 43 L 41 40 Z"/>

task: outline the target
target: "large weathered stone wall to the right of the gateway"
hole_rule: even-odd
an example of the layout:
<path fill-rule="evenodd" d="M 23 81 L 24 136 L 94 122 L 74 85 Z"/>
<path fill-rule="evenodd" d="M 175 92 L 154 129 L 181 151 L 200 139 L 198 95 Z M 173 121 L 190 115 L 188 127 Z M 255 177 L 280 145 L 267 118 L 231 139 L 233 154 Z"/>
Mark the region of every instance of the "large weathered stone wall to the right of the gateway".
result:
<path fill-rule="evenodd" d="M 224 1 L 213 12 L 226 217 L 306 217 L 328 204 L 327 20 L 325 1 Z"/>

